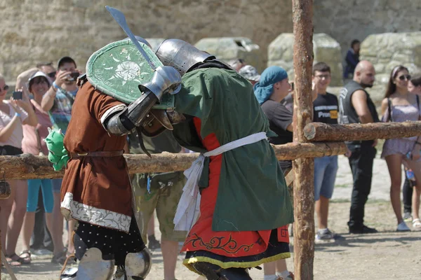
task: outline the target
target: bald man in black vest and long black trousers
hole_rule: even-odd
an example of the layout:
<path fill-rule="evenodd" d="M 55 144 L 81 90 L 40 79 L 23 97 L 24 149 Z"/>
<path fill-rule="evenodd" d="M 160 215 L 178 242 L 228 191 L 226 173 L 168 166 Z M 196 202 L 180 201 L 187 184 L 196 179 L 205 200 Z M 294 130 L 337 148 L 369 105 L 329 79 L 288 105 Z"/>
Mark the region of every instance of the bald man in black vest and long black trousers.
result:
<path fill-rule="evenodd" d="M 365 90 L 367 87 L 373 86 L 374 80 L 373 64 L 368 61 L 359 62 L 354 71 L 354 79 L 340 91 L 340 124 L 377 123 L 380 121 L 370 94 Z M 349 211 L 349 232 L 374 233 L 377 230 L 368 228 L 363 221 L 364 207 L 370 194 L 377 140 L 347 141 L 346 143 L 352 153 L 349 156 L 349 166 L 354 179 Z"/>

